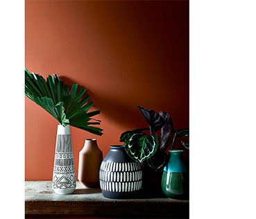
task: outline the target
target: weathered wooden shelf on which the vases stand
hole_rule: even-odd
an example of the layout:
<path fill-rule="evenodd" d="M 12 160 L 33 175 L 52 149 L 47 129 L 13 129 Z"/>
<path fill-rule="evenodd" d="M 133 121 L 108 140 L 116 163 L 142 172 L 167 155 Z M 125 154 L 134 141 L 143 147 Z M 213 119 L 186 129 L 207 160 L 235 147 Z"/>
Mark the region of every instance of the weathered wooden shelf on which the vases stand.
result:
<path fill-rule="evenodd" d="M 189 201 L 169 198 L 112 200 L 100 189 L 85 189 L 77 182 L 71 195 L 57 195 L 51 181 L 25 183 L 26 214 L 83 214 L 95 216 L 164 216 L 189 218 Z"/>

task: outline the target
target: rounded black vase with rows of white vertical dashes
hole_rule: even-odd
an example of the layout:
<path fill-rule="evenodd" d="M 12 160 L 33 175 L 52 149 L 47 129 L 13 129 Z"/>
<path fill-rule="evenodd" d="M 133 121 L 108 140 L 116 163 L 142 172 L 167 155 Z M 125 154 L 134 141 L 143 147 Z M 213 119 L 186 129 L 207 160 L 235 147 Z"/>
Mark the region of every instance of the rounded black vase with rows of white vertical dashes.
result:
<path fill-rule="evenodd" d="M 101 163 L 100 186 L 105 198 L 137 198 L 142 189 L 142 167 L 124 146 L 110 146 Z"/>

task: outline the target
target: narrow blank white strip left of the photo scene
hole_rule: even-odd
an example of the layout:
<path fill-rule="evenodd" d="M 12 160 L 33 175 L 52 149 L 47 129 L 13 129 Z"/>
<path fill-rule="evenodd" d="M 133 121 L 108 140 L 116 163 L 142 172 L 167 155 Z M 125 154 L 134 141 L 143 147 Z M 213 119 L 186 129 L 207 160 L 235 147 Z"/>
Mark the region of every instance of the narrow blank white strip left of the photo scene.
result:
<path fill-rule="evenodd" d="M 24 1 L 1 1 L 1 218 L 24 218 Z"/>

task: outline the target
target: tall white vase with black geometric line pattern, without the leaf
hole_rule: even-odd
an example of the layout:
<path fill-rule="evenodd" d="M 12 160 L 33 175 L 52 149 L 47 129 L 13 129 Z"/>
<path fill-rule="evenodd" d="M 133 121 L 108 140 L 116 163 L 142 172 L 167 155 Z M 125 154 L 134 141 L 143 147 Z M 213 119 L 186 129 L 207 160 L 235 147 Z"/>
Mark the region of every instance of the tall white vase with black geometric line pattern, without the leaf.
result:
<path fill-rule="evenodd" d="M 52 188 L 55 193 L 62 195 L 71 194 L 76 189 L 76 175 L 69 125 L 66 127 L 58 125 Z"/>

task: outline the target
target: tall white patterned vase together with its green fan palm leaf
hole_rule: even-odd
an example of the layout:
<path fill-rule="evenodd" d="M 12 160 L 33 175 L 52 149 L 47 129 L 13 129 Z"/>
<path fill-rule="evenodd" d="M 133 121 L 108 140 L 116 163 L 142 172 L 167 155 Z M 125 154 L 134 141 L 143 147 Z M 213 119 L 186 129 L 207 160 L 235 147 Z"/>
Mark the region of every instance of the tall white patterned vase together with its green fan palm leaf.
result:
<path fill-rule="evenodd" d="M 40 105 L 59 123 L 56 138 L 56 155 L 53 168 L 53 191 L 60 194 L 73 193 L 76 188 L 73 150 L 69 125 L 93 134 L 102 135 L 101 121 L 93 119 L 100 110 L 88 112 L 94 105 L 85 95 L 86 89 L 78 90 L 73 84 L 70 91 L 58 75 L 48 76 L 46 80 L 37 73 L 25 68 L 25 95 Z"/>

